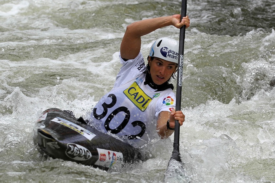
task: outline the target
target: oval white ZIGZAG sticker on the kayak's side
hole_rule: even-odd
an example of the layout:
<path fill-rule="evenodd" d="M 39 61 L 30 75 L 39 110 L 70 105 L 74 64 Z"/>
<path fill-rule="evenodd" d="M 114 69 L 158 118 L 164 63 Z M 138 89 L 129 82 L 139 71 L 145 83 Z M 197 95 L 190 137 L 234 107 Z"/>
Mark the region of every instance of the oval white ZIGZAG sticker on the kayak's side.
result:
<path fill-rule="evenodd" d="M 85 161 L 92 157 L 92 153 L 87 148 L 74 143 L 67 144 L 66 155 L 78 161 Z"/>

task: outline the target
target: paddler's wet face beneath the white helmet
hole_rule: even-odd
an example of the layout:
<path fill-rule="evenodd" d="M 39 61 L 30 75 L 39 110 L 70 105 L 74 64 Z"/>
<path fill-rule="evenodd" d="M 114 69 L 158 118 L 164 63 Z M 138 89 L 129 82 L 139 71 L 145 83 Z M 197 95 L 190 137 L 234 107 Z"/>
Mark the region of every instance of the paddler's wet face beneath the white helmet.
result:
<path fill-rule="evenodd" d="M 150 75 L 155 84 L 161 85 L 168 81 L 176 71 L 176 63 L 154 57 L 149 57 Z"/>

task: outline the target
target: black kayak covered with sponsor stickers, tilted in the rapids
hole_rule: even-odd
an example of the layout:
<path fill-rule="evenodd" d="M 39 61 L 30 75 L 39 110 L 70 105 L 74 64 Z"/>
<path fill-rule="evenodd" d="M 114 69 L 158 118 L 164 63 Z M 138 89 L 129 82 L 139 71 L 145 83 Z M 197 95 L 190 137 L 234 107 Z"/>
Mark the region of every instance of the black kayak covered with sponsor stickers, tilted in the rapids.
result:
<path fill-rule="evenodd" d="M 41 154 L 109 170 L 147 160 L 138 148 L 88 126 L 58 108 L 42 113 L 33 130 Z"/>

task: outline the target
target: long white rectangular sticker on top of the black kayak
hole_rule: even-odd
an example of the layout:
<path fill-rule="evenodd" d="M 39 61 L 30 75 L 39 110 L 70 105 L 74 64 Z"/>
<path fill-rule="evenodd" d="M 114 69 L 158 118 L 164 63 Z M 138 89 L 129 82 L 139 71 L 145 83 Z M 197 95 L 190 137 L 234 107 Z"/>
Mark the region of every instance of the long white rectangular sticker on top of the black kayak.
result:
<path fill-rule="evenodd" d="M 77 124 L 72 123 L 66 119 L 56 117 L 51 121 L 67 126 L 68 128 L 71 128 L 72 130 L 78 132 L 79 134 L 83 135 L 89 140 L 92 140 L 96 136 L 94 133 L 90 132 L 89 130 L 86 130 L 85 128 L 82 128 L 81 126 L 78 126 Z"/>

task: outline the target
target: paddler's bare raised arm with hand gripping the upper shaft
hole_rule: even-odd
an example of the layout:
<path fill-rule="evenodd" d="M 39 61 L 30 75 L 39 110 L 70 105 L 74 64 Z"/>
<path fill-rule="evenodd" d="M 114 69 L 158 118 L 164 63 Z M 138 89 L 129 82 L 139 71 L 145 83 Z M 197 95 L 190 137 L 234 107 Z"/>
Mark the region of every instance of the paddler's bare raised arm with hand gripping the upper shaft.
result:
<path fill-rule="evenodd" d="M 188 16 L 181 20 L 181 15 L 164 16 L 152 19 L 141 20 L 127 26 L 120 45 L 120 54 L 123 59 L 134 59 L 141 49 L 141 36 L 147 35 L 156 29 L 173 25 L 180 28 L 183 25 L 189 27 Z"/>

